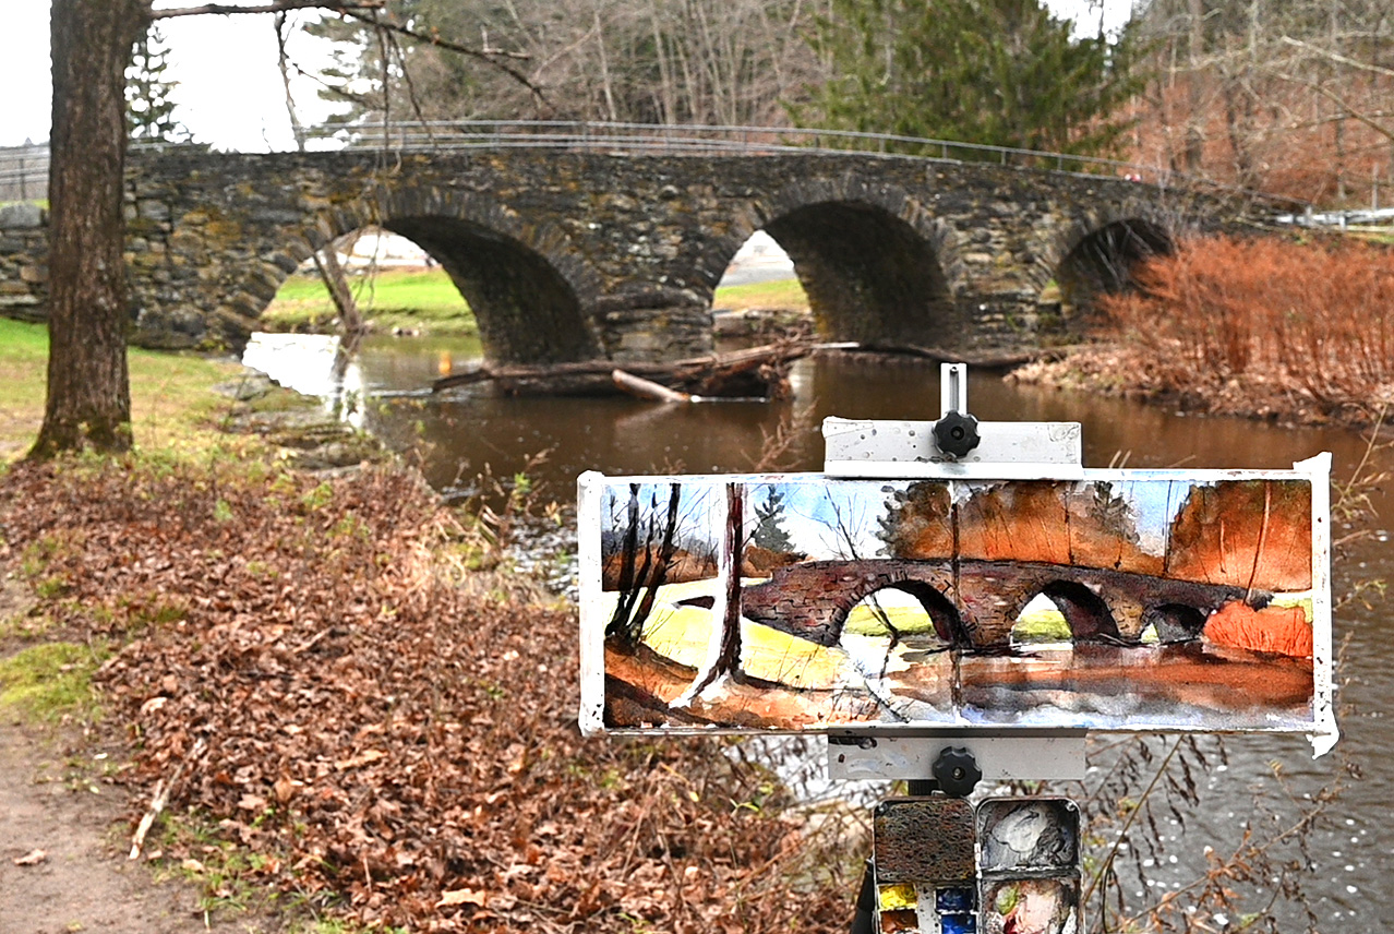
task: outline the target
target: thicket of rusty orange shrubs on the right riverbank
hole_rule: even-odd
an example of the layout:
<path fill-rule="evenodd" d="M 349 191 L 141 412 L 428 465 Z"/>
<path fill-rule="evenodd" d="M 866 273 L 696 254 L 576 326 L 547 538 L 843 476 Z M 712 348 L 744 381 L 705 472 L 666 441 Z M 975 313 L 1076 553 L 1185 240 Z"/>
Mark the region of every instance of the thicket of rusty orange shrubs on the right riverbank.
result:
<path fill-rule="evenodd" d="M 1394 397 L 1394 251 L 1200 237 L 1103 309 L 1144 388 L 1299 393 L 1323 411 Z M 1143 388 L 1143 386 L 1139 386 Z"/>

